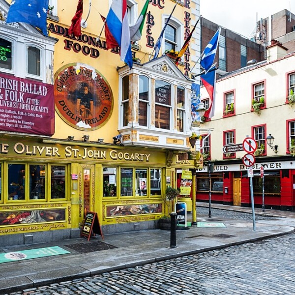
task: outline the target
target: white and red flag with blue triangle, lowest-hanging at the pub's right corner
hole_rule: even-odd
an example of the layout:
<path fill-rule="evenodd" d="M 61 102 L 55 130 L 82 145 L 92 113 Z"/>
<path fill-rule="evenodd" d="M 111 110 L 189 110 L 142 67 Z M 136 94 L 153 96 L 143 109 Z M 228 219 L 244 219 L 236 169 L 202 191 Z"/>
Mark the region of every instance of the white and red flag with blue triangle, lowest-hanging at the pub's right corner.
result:
<path fill-rule="evenodd" d="M 201 75 L 201 80 L 210 97 L 210 106 L 209 106 L 209 109 L 205 112 L 204 117 L 212 118 L 214 117 L 214 110 L 215 110 L 215 80 L 216 80 L 215 65 L 212 68 L 210 68 L 206 74 Z"/>

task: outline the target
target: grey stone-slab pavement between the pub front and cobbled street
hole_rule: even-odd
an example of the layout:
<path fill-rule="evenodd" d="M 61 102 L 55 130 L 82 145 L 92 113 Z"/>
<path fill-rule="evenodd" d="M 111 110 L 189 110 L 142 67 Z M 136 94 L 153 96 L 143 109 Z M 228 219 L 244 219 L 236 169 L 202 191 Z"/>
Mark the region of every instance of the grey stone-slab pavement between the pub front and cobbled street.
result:
<path fill-rule="evenodd" d="M 201 209 L 201 207 L 203 207 Z M 208 218 L 207 203 L 197 203 L 197 221 L 223 222 L 226 228 L 190 227 L 177 230 L 177 247 L 170 248 L 170 231 L 145 230 L 85 238 L 67 239 L 42 244 L 30 244 L 0 248 L 0 253 L 59 246 L 70 254 L 22 260 L 0 264 L 0 294 L 29 289 L 57 281 L 90 276 L 126 267 L 140 266 L 170 258 L 220 249 L 237 244 L 294 233 L 295 213 L 255 208 L 256 231 L 249 218 L 228 218 L 227 212 L 218 219 Z M 198 214 L 202 211 L 202 214 Z M 251 208 L 211 205 L 213 209 L 251 213 Z M 206 213 L 204 213 L 206 211 Z M 234 216 L 234 215 L 233 215 Z M 264 217 L 261 217 L 264 216 Z M 188 214 L 191 220 L 191 214 Z M 111 248 L 95 251 L 95 245 Z M 92 246 L 92 249 L 89 249 Z M 107 248 L 107 247 L 105 247 Z M 76 249 L 76 250 L 75 250 Z M 84 253 L 80 253 L 78 250 Z M 91 251 L 91 252 L 89 252 Z"/>

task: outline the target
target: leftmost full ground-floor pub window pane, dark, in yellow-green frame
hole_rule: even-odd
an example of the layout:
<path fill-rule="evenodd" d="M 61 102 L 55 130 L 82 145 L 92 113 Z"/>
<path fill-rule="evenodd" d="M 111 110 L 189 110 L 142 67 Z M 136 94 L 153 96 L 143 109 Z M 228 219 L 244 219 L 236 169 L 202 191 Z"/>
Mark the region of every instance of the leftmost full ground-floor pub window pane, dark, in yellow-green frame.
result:
<path fill-rule="evenodd" d="M 26 165 L 8 164 L 8 200 L 25 200 Z"/>

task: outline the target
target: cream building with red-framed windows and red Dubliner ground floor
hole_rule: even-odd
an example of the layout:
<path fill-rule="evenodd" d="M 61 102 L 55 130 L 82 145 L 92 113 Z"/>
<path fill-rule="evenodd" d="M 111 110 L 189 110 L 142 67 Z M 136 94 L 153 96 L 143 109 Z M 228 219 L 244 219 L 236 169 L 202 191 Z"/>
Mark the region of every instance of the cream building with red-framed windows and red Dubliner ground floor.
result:
<path fill-rule="evenodd" d="M 208 155 L 207 163 L 214 164 L 212 202 L 251 206 L 246 167 L 249 166 L 254 170 L 255 206 L 294 210 L 295 109 L 290 94 L 294 93 L 295 87 L 295 54 L 287 55 L 286 48 L 275 40 L 271 41 L 266 53 L 265 61 L 216 81 L 215 116 L 205 120 L 201 127 L 204 135 L 202 152 Z M 201 88 L 201 99 L 205 102 L 208 99 L 204 87 Z M 255 148 L 253 143 L 249 150 L 244 142 L 247 137 L 257 143 L 254 156 L 245 156 L 243 148 L 249 153 Z M 271 147 L 267 137 L 273 137 Z M 264 178 L 261 177 L 262 166 Z M 197 176 L 197 200 L 208 200 L 207 176 L 204 167 Z M 218 190 L 214 187 L 215 182 L 219 184 Z"/>

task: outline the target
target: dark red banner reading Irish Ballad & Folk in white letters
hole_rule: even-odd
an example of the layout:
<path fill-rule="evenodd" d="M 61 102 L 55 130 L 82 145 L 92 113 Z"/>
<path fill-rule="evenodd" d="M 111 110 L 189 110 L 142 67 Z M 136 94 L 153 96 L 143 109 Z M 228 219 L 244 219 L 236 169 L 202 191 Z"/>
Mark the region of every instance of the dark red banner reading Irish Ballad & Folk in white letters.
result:
<path fill-rule="evenodd" d="M 53 85 L 1 73 L 0 131 L 53 135 Z"/>

